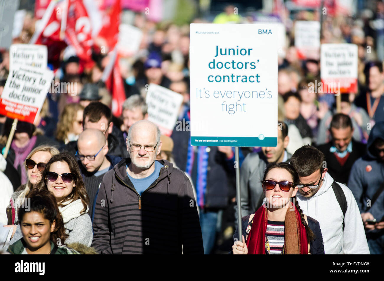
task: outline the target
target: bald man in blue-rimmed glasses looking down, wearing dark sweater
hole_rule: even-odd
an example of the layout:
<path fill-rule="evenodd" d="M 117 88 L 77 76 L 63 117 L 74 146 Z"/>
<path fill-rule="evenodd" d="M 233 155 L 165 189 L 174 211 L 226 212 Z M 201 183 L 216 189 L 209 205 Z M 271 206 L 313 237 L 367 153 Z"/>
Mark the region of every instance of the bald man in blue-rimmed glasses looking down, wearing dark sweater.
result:
<path fill-rule="evenodd" d="M 121 160 L 119 156 L 108 155 L 106 138 L 98 129 L 85 129 L 77 141 L 76 158 L 89 197 L 89 216 L 93 221 L 94 203 L 101 180 L 106 172 Z"/>

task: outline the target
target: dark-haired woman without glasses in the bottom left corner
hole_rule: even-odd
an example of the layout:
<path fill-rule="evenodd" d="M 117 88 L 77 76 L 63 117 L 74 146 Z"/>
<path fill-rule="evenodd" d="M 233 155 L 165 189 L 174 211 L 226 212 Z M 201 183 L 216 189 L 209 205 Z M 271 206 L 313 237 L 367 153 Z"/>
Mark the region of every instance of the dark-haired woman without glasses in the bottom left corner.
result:
<path fill-rule="evenodd" d="M 8 247 L 8 253 L 14 255 L 78 254 L 64 246 L 68 234 L 53 194 L 48 190 L 38 191 L 35 188 L 25 199 L 29 202 L 23 204 L 18 211 L 23 237 Z"/>

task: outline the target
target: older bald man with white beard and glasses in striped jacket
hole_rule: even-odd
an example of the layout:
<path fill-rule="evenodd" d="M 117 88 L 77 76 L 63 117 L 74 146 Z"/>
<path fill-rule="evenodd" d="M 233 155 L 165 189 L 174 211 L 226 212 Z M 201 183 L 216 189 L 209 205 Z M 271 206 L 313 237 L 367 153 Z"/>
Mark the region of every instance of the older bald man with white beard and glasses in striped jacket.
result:
<path fill-rule="evenodd" d="M 203 254 L 192 185 L 161 151 L 160 130 L 134 123 L 126 139 L 129 158 L 108 171 L 100 186 L 92 246 L 101 254 Z"/>

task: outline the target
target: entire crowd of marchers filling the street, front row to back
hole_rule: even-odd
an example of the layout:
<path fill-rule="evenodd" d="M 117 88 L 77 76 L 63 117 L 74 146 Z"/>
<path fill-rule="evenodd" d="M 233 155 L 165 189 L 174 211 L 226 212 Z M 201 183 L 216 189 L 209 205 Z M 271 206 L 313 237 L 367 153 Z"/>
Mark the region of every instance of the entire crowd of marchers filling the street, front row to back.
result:
<path fill-rule="evenodd" d="M 66 51 L 48 61 L 59 65 L 55 82 L 76 87 L 48 93 L 34 124 L 18 121 L 0 155 L 0 223 L 12 228 L 3 253 L 384 253 L 384 29 L 370 24 L 384 19 L 382 1 L 359 17 L 323 20 L 321 43 L 359 48 L 358 93 L 342 94 L 341 110 L 333 93 L 310 90 L 320 61 L 301 57 L 293 40 L 295 21 L 319 12 L 286 17 L 277 145 L 239 149 L 242 239 L 234 147 L 191 146 L 188 129 L 175 125 L 169 137 L 147 120 L 153 83 L 183 96 L 177 121 L 193 126 L 189 25 L 133 15 L 143 37 L 137 54 L 119 58 L 119 116 L 102 79 L 110 55 L 94 48 L 92 68 Z M 228 6 L 213 23 L 253 21 Z M 25 18 L 15 43 L 28 43 L 32 22 Z M 0 95 L 9 55 L 0 50 Z M 0 116 L 0 149 L 14 125 Z"/>

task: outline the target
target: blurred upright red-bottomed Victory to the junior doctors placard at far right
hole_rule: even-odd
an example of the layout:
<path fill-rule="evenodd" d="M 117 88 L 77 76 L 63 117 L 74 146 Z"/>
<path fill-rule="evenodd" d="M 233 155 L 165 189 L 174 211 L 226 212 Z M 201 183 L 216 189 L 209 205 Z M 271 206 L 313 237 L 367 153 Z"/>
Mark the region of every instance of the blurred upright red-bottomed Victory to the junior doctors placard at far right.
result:
<path fill-rule="evenodd" d="M 322 44 L 321 82 L 326 89 L 337 84 L 340 93 L 357 93 L 358 46 L 355 44 Z"/>

